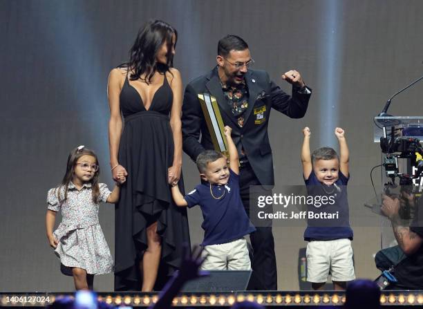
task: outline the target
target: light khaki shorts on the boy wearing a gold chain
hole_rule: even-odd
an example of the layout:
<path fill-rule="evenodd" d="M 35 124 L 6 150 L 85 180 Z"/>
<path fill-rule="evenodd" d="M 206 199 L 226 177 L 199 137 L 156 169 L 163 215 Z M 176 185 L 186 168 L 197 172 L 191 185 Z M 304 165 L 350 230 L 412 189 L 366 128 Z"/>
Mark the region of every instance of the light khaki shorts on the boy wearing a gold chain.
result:
<path fill-rule="evenodd" d="M 207 254 L 207 259 L 201 265 L 202 270 L 251 270 L 245 238 L 219 245 L 206 245 L 203 254 Z"/>

